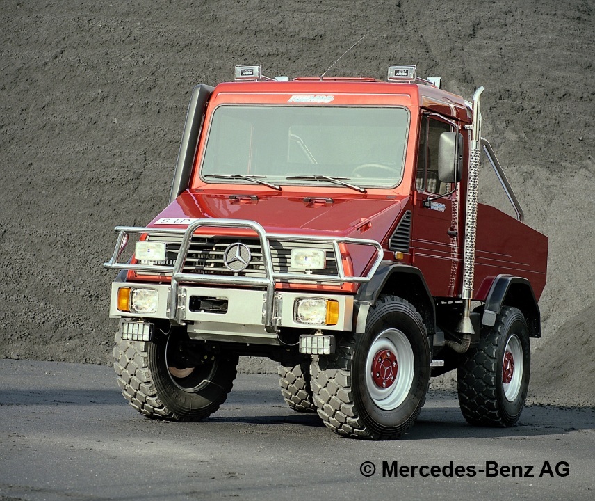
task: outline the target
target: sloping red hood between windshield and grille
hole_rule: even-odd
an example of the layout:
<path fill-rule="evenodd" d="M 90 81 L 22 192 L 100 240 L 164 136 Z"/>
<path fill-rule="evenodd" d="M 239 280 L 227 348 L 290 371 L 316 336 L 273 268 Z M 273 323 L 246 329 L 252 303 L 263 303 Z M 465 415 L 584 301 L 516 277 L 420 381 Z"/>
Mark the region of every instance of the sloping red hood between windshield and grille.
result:
<path fill-rule="evenodd" d="M 344 196 L 344 195 L 343 195 Z M 247 219 L 261 224 L 270 233 L 327 234 L 384 240 L 402 211 L 402 196 L 338 198 L 305 202 L 304 196 L 250 196 L 231 198 L 218 193 L 185 191 L 149 224 L 160 228 L 188 225 L 184 219 Z M 369 223 L 368 223 L 369 220 Z"/>

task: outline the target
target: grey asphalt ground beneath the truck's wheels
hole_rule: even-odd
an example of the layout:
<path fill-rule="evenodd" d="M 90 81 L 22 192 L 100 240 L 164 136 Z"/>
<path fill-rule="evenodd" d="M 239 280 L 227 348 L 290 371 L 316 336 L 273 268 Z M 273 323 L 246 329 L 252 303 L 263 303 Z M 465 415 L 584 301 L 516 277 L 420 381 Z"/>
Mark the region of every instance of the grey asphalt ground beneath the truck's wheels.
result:
<path fill-rule="evenodd" d="M 110 367 L 0 360 L 2 501 L 592 500 L 594 450 L 592 408 L 478 428 L 433 391 L 405 438 L 370 442 L 291 411 L 271 375 L 239 374 L 218 413 L 173 423 L 133 411 Z"/>

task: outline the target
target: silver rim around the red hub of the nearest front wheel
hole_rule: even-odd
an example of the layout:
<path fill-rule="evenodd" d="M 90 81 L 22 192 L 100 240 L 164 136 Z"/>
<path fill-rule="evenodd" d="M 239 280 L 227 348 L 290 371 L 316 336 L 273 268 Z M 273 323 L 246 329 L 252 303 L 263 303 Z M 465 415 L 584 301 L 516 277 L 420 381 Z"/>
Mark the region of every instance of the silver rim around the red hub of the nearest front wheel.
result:
<path fill-rule="evenodd" d="M 394 381 L 388 388 L 380 388 L 373 378 L 373 364 L 377 353 L 389 350 L 394 353 L 398 369 Z M 366 358 L 366 388 L 374 404 L 383 411 L 392 411 L 400 406 L 411 390 L 415 369 L 415 358 L 407 336 L 398 329 L 382 331 L 370 346 Z"/>

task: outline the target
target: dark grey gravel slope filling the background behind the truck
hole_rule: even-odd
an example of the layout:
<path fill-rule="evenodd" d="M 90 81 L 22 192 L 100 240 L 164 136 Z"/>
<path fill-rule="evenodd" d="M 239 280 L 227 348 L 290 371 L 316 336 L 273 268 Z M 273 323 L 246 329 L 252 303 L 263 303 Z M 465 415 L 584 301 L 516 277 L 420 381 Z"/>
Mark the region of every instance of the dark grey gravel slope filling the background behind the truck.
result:
<path fill-rule="evenodd" d="M 466 97 L 486 88 L 484 135 L 551 242 L 532 388 L 559 399 L 555 360 L 560 395 L 593 405 L 580 344 L 595 303 L 592 2 L 5 0 L 0 13 L 0 356 L 111 363 L 101 263 L 115 225 L 165 205 L 193 86 L 237 63 L 321 74 L 366 35 L 332 74 L 416 63 Z M 482 175 L 484 200 L 505 207 Z M 568 329 L 583 321 L 585 340 Z M 572 364 L 556 358 L 562 337 Z"/>

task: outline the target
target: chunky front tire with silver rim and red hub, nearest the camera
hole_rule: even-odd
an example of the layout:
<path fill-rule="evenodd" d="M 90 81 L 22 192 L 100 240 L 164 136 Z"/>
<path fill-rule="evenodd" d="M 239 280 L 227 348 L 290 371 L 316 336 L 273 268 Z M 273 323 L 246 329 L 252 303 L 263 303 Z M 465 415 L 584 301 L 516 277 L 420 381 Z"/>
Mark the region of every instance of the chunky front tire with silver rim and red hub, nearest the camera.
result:
<path fill-rule="evenodd" d="M 375 360 L 371 351 L 378 351 L 389 333 L 398 333 L 396 358 L 410 383 L 403 383 L 396 372 L 398 377 L 391 385 L 400 393 L 379 399 L 366 373 L 373 367 L 370 358 Z M 314 356 L 311 376 L 314 404 L 329 429 L 372 440 L 399 438 L 418 417 L 430 379 L 430 346 L 421 316 L 404 299 L 380 296 L 368 312 L 366 333 L 344 337 L 332 356 Z M 391 385 L 375 391 L 392 391 Z"/>

